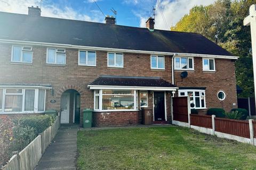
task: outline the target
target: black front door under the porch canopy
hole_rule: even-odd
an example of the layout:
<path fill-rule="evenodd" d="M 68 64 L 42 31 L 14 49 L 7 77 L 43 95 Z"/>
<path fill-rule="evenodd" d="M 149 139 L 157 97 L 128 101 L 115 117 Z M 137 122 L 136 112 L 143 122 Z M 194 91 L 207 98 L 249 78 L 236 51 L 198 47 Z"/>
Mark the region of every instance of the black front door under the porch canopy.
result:
<path fill-rule="evenodd" d="M 154 91 L 154 121 L 165 121 L 163 91 Z"/>

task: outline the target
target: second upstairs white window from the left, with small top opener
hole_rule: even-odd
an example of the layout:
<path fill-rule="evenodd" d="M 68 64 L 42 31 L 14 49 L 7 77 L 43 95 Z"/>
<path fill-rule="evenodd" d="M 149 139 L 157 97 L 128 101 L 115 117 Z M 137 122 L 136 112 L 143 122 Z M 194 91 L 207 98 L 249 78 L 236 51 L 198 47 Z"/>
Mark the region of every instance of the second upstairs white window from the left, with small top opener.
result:
<path fill-rule="evenodd" d="M 47 64 L 66 64 L 66 49 L 47 48 Z"/>

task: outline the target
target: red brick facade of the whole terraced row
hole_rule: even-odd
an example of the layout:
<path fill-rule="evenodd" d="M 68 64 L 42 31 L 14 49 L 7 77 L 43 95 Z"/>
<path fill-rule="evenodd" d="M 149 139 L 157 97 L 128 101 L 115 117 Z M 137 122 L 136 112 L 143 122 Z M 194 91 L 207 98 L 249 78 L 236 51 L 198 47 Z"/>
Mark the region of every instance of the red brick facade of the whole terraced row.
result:
<path fill-rule="evenodd" d="M 124 67 L 107 67 L 107 51 L 97 51 L 97 66 L 79 66 L 78 49 L 66 48 L 66 65 L 46 64 L 46 46 L 33 46 L 33 63 L 11 63 L 12 44 L 0 44 L 0 82 L 23 84 L 50 84 L 47 90 L 46 108 L 60 111 L 60 98 L 63 92 L 74 89 L 81 95 L 81 118 L 84 108 L 93 109 L 93 91 L 87 85 L 99 75 L 122 75 L 135 77 L 161 77 L 172 82 L 172 58 L 165 56 L 165 70 L 150 69 L 150 54 L 124 53 Z M 188 77 L 180 79 L 180 71 L 175 71 L 178 87 L 206 87 L 206 107 L 223 107 L 227 111 L 236 107 L 235 66 L 231 60 L 215 59 L 216 72 L 202 71 L 202 58 L 195 57 L 195 71 L 188 71 Z M 217 92 L 226 92 L 226 99 L 218 100 Z M 166 92 L 166 117 L 171 122 L 171 92 Z M 50 100 L 57 102 L 52 104 Z M 149 107 L 153 108 L 152 92 L 148 95 Z M 236 105 L 233 106 L 233 103 Z M 137 124 L 141 122 L 139 112 L 95 112 L 97 126 Z M 105 115 L 105 118 L 102 118 Z M 153 118 L 153 116 L 152 116 Z M 69 118 L 70 123 L 71 117 Z"/>

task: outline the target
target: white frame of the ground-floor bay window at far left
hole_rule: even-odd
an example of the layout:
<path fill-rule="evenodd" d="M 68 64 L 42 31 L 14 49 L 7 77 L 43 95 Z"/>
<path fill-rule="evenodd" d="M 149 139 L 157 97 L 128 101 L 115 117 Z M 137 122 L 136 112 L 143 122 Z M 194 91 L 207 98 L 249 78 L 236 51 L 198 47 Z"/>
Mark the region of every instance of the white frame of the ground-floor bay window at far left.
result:
<path fill-rule="evenodd" d="M 0 88 L 3 90 L 3 96 L 2 96 L 2 112 L 0 112 L 1 114 L 31 114 L 31 113 L 44 113 L 45 112 L 45 102 L 46 102 L 46 90 L 44 90 L 44 111 L 38 111 L 38 91 L 39 89 L 34 89 L 34 88 Z M 6 93 L 7 89 L 21 89 L 22 92 L 20 94 L 15 94 L 15 93 Z M 25 91 L 26 90 L 35 90 L 35 96 L 34 96 L 34 111 L 24 111 L 25 109 Z M 5 96 L 12 96 L 12 95 L 20 95 L 22 96 L 22 109 L 21 112 L 4 112 L 5 109 Z"/>

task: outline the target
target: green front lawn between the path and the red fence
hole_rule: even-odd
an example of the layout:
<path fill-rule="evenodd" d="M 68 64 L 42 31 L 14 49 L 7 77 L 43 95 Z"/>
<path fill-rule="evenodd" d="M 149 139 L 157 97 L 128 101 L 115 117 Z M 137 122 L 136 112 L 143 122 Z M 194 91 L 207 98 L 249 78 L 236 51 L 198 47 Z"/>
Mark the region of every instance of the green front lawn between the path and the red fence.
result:
<path fill-rule="evenodd" d="M 256 169 L 256 147 L 180 127 L 79 131 L 78 169 Z"/>

